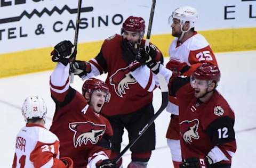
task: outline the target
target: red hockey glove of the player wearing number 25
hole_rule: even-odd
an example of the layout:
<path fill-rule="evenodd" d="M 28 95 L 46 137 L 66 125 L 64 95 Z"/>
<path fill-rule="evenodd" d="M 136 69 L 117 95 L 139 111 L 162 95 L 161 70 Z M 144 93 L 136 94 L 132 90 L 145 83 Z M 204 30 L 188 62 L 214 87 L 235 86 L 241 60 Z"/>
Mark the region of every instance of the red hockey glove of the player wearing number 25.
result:
<path fill-rule="evenodd" d="M 171 59 L 167 64 L 166 68 L 176 72 L 176 73 L 184 73 L 187 72 L 190 68 L 190 66 L 186 62 L 179 62 L 177 60 Z"/>

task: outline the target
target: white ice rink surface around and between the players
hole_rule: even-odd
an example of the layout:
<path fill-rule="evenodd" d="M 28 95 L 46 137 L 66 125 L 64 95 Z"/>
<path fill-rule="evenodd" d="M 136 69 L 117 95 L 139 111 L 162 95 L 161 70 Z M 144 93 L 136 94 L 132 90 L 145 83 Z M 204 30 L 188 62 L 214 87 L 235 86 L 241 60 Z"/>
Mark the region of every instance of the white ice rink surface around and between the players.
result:
<path fill-rule="evenodd" d="M 221 70 L 221 80 L 218 86 L 220 93 L 233 107 L 236 120 L 235 131 L 237 140 L 237 152 L 233 158 L 231 167 L 254 167 L 256 156 L 256 51 L 230 52 L 215 54 Z M 165 58 L 167 62 L 168 58 Z M 15 136 L 21 127 L 25 125 L 21 115 L 23 100 L 30 95 L 39 95 L 44 98 L 47 105 L 46 128 L 50 128 L 54 102 L 50 97 L 49 77 L 51 71 L 19 75 L 16 77 L 0 79 L 0 106 L 2 129 L 0 130 L 0 167 L 11 167 Z M 102 75 L 100 79 L 105 79 Z M 81 91 L 83 81 L 75 77 L 71 85 Z M 154 91 L 155 111 L 161 104 L 161 92 Z M 166 145 L 165 133 L 169 124 L 170 114 L 164 111 L 156 119 L 156 150 L 153 151 L 148 168 L 173 167 L 171 154 Z M 126 132 L 124 134 L 123 147 L 128 144 Z M 124 167 L 130 162 L 130 152 L 127 152 L 124 159 Z"/>

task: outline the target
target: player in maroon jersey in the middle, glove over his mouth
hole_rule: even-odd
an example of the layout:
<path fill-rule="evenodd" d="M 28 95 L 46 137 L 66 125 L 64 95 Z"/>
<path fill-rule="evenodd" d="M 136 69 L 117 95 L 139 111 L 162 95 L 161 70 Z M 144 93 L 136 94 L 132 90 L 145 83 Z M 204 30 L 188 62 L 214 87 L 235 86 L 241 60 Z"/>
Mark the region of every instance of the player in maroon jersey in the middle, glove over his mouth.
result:
<path fill-rule="evenodd" d="M 145 40 L 142 39 L 144 32 L 145 21 L 140 17 L 130 16 L 123 23 L 121 35 L 107 38 L 95 58 L 89 62 L 74 63 L 75 74 L 82 79 L 108 73 L 106 84 L 111 93 L 111 100 L 102 108 L 102 114 L 110 121 L 114 131 L 111 138 L 111 158 L 120 153 L 124 128 L 128 131 L 129 139 L 135 139 L 140 129 L 154 115 L 151 92 L 155 88 L 155 83 L 151 83 L 153 73 L 147 66 L 140 66 L 141 64 L 135 61 L 135 57 L 145 54 Z M 149 54 L 154 60 L 163 61 L 161 52 L 153 44 L 149 45 Z M 138 73 L 141 70 L 144 73 Z M 143 80 L 138 82 L 138 78 Z M 147 167 L 153 149 L 154 124 L 131 147 L 132 162 L 128 167 Z M 118 163 L 118 166 L 121 165 L 122 159 Z"/>

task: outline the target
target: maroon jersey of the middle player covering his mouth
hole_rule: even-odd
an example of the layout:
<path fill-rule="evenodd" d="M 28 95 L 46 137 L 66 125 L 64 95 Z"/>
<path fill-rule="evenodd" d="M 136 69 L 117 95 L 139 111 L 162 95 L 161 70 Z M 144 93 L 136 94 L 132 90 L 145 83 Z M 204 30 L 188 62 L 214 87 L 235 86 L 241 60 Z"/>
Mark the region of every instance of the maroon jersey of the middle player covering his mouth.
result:
<path fill-rule="evenodd" d="M 111 99 L 102 108 L 102 114 L 104 115 L 127 114 L 137 111 L 149 104 L 153 98 L 153 93 L 148 91 L 153 74 L 150 74 L 146 88 L 142 88 L 137 80 L 128 74 L 133 65 L 132 67 L 131 64 L 129 66 L 122 58 L 121 41 L 122 36 L 117 34 L 107 38 L 102 44 L 101 51 L 97 57 L 90 60 L 93 65 L 92 71 L 97 68 L 99 74 L 108 73 L 106 83 L 109 86 Z M 145 40 L 142 40 L 141 44 L 143 46 Z M 163 58 L 162 54 L 157 49 L 156 59 L 161 60 L 161 58 Z M 135 62 L 134 66 L 137 63 Z"/>

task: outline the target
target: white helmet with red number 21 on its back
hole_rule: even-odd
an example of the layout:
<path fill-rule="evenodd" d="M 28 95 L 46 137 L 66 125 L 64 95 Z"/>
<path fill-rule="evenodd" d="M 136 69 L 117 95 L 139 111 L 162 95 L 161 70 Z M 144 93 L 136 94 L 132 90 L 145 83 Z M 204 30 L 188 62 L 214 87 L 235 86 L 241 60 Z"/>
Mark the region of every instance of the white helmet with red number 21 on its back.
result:
<path fill-rule="evenodd" d="M 44 119 L 47 108 L 43 98 L 39 96 L 29 96 L 23 102 L 21 111 L 27 122 L 28 119 Z"/>

